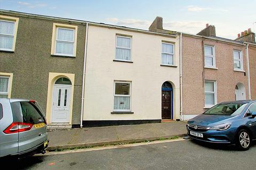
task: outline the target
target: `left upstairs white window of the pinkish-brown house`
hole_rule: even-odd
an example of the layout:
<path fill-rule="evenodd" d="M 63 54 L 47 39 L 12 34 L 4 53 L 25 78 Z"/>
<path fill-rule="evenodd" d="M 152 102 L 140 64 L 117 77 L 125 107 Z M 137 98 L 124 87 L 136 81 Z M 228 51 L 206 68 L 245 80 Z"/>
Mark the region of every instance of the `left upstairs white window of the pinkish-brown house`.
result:
<path fill-rule="evenodd" d="M 212 46 L 204 46 L 204 65 L 215 67 L 215 52 Z"/>

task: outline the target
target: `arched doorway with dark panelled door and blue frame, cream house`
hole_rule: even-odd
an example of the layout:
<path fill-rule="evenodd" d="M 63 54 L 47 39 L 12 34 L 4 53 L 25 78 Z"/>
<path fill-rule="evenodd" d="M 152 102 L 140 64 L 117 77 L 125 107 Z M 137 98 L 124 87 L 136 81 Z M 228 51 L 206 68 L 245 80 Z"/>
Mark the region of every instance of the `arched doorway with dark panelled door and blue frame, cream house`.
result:
<path fill-rule="evenodd" d="M 170 82 L 162 85 L 162 120 L 173 119 L 173 89 Z"/>

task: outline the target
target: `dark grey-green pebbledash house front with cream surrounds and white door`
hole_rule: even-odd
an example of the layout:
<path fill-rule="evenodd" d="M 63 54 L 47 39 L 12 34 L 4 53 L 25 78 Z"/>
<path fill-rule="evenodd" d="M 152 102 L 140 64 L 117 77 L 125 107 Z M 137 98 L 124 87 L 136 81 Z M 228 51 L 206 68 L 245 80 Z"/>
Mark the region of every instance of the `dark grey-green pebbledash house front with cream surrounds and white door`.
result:
<path fill-rule="evenodd" d="M 79 124 L 86 26 L 4 10 L 0 15 L 1 97 L 38 101 L 47 124 L 57 128 Z"/>

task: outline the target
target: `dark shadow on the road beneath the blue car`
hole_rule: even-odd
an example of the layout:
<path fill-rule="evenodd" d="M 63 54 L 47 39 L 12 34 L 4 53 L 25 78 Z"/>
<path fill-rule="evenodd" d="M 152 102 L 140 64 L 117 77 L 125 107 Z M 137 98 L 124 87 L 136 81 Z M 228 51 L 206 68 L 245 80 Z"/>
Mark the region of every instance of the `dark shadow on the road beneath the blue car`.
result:
<path fill-rule="evenodd" d="M 237 148 L 235 147 L 235 145 L 225 145 L 225 144 L 221 144 L 221 143 L 207 143 L 207 142 L 202 142 L 202 141 L 197 141 L 194 139 L 190 140 L 191 142 L 195 143 L 196 145 L 205 147 L 205 148 L 209 148 L 209 149 L 219 149 L 219 150 L 227 150 L 227 151 L 240 151 L 237 150 Z M 256 147 L 255 146 L 256 142 L 252 143 L 252 146 L 250 149 Z"/>

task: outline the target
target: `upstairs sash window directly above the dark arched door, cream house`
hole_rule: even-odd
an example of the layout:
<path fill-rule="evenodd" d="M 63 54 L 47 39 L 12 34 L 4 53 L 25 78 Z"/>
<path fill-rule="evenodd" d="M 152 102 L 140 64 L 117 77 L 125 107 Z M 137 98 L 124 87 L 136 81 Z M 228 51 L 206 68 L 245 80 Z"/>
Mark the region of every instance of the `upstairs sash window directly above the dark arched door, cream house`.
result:
<path fill-rule="evenodd" d="M 162 64 L 173 65 L 173 44 L 162 43 Z"/>

